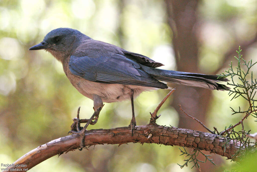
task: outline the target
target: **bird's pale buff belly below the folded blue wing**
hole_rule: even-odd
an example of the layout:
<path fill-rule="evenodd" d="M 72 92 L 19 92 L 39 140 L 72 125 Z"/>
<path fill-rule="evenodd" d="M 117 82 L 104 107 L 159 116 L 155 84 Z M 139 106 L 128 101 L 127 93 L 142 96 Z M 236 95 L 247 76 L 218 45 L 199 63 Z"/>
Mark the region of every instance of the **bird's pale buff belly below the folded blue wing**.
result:
<path fill-rule="evenodd" d="M 158 89 L 134 85 L 96 83 L 81 78 L 71 83 L 82 95 L 89 99 L 93 100 L 93 95 L 96 94 L 101 97 L 103 102 L 107 103 L 130 99 L 131 89 L 134 90 L 134 97 L 138 96 L 143 91 Z"/>

